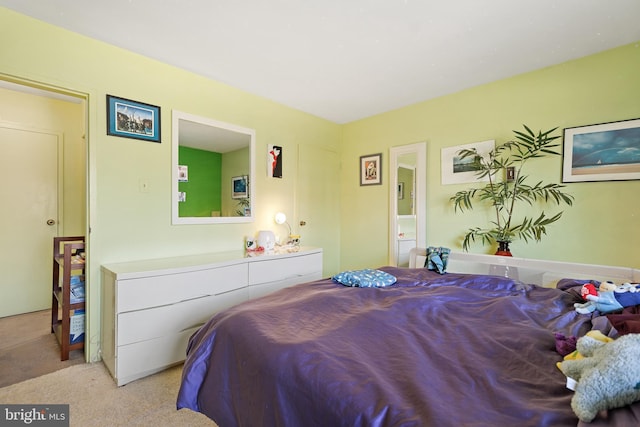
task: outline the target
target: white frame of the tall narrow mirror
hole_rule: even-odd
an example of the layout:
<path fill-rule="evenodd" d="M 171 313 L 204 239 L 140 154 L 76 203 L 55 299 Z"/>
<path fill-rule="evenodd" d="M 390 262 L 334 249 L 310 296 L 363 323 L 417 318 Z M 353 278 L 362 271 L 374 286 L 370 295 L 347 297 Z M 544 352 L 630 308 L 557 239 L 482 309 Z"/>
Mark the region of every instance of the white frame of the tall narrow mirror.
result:
<path fill-rule="evenodd" d="M 427 143 L 417 142 L 389 148 L 389 265 L 398 264 L 398 157 L 404 154 L 416 154 L 415 165 L 415 211 L 416 245 L 427 244 Z"/>

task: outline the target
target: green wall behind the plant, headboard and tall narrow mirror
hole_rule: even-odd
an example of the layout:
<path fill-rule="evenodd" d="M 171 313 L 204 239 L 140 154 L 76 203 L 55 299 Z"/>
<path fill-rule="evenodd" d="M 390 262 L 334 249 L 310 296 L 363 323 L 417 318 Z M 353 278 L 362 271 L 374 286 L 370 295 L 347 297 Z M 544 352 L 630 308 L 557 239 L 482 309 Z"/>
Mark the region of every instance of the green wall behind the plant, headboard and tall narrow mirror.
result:
<path fill-rule="evenodd" d="M 388 179 L 360 187 L 359 156 L 427 142 L 427 242 L 462 250 L 462 236 L 484 226 L 487 214 L 454 213 L 448 201 L 466 185 L 441 185 L 440 150 L 512 137 L 527 124 L 534 130 L 640 118 L 640 43 L 605 51 L 539 71 L 470 88 L 344 126 L 342 191 L 342 267 L 386 265 Z M 561 158 L 527 166 L 536 179 L 560 182 Z M 387 175 L 388 176 L 388 175 Z M 548 227 L 540 243 L 511 245 L 515 256 L 640 267 L 640 181 L 572 183 L 576 200 L 563 218 Z M 367 206 L 366 221 L 358 207 Z M 552 209 L 548 210 L 551 212 Z M 476 244 L 470 252 L 493 253 Z"/>

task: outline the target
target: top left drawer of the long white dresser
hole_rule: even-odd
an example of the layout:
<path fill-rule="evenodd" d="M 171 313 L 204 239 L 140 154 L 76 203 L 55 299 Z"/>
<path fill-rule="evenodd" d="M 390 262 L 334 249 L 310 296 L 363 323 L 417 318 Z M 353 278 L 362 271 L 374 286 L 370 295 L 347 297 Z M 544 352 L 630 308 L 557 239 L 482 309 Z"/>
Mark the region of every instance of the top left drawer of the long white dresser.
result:
<path fill-rule="evenodd" d="M 220 294 L 247 286 L 247 265 L 119 280 L 118 312 L 141 310 Z"/>

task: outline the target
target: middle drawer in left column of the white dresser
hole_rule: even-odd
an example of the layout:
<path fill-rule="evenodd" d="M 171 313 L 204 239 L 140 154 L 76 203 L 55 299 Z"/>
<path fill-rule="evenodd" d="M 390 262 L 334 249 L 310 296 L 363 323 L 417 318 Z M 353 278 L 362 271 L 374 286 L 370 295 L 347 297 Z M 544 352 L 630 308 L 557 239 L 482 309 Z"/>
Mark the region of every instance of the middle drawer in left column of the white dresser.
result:
<path fill-rule="evenodd" d="M 220 295 L 118 315 L 118 344 L 128 345 L 198 328 L 215 313 L 249 298 L 246 287 Z"/>

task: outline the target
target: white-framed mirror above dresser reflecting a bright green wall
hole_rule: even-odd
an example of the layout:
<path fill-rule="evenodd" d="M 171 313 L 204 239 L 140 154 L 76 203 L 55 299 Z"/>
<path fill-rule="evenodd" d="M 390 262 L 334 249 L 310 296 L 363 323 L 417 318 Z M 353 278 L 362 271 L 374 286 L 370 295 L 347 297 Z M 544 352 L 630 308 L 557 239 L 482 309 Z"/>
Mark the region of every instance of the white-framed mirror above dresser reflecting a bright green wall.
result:
<path fill-rule="evenodd" d="M 251 222 L 255 131 L 172 113 L 172 223 Z"/>

